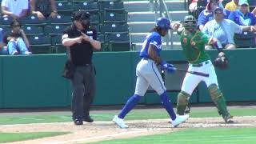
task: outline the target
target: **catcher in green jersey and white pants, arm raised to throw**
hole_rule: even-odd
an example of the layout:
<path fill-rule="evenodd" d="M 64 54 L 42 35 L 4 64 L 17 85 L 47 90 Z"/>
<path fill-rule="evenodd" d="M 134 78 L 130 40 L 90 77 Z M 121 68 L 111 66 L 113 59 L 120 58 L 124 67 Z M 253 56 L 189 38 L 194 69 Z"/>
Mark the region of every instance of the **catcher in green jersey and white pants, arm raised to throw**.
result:
<path fill-rule="evenodd" d="M 233 116 L 227 110 L 225 98 L 218 87 L 218 80 L 214 70 L 214 66 L 222 70 L 228 67 L 228 59 L 222 51 L 222 45 L 217 39 L 209 38 L 208 35 L 197 30 L 197 22 L 192 15 L 184 18 L 182 28 L 178 29 L 178 34 L 180 35 L 182 50 L 189 62 L 188 70 L 203 72 L 210 76 L 202 77 L 186 73 L 186 77 L 182 83 L 182 90 L 178 94 L 177 114 L 183 115 L 185 113 L 191 94 L 195 87 L 198 86 L 198 83 L 203 81 L 206 83 L 210 97 L 217 107 L 218 113 L 222 115 L 226 123 L 233 122 L 231 120 Z M 214 46 L 218 50 L 218 58 L 216 58 L 214 64 L 210 61 L 209 54 L 204 50 L 207 44 Z"/>

